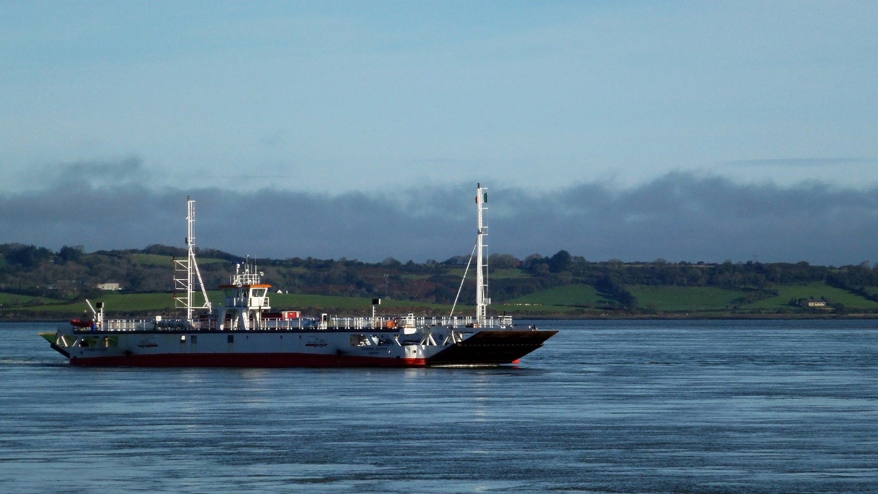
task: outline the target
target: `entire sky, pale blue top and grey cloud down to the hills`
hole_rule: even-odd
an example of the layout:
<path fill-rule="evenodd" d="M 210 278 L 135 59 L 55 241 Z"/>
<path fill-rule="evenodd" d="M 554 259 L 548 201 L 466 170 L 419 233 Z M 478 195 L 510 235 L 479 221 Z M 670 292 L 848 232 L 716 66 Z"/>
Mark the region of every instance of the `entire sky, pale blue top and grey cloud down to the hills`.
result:
<path fill-rule="evenodd" d="M 876 62 L 869 2 L 0 2 L 0 242 L 441 260 L 480 182 L 494 252 L 878 261 Z"/>

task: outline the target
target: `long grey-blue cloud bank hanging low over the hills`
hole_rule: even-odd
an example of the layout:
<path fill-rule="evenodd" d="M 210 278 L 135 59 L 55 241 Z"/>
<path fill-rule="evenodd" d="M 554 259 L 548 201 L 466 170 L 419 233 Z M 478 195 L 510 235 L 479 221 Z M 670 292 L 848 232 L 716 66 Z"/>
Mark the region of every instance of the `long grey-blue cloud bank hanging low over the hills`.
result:
<path fill-rule="evenodd" d="M 0 196 L 0 242 L 89 250 L 183 246 L 187 196 L 198 201 L 198 245 L 235 254 L 442 260 L 470 252 L 474 241 L 475 183 L 384 195 L 152 190 L 124 172 L 136 172 L 136 162 L 111 165 L 77 164 L 61 174 L 72 177 L 63 186 Z M 103 169 L 115 170 L 119 182 L 76 179 Z M 492 189 L 489 198 L 490 252 L 520 257 L 564 248 L 594 261 L 878 261 L 878 189 L 673 173 L 623 189 Z"/>

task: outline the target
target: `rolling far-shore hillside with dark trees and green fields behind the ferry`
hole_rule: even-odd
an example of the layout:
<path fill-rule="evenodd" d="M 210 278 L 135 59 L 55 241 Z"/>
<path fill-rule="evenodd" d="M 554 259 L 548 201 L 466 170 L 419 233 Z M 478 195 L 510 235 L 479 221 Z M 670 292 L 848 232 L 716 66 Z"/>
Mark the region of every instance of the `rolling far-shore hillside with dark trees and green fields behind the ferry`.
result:
<path fill-rule="evenodd" d="M 82 313 L 86 298 L 104 301 L 119 314 L 173 314 L 175 255 L 185 250 L 154 245 L 85 253 L 81 247 L 54 252 L 0 245 L 0 317 L 61 319 Z M 198 255 L 209 288 L 226 283 L 235 263 L 244 261 L 214 249 Z M 383 309 L 440 314 L 450 311 L 468 260 L 368 263 L 295 257 L 255 262 L 274 287 L 276 308 L 365 313 L 370 299 L 380 297 Z M 866 263 L 592 262 L 559 251 L 524 260 L 493 254 L 490 264 L 493 311 L 524 317 L 878 313 L 878 269 Z M 98 290 L 98 283 L 118 283 L 122 290 Z M 470 279 L 459 304 L 471 304 L 473 298 Z M 802 306 L 807 300 L 825 305 Z"/>

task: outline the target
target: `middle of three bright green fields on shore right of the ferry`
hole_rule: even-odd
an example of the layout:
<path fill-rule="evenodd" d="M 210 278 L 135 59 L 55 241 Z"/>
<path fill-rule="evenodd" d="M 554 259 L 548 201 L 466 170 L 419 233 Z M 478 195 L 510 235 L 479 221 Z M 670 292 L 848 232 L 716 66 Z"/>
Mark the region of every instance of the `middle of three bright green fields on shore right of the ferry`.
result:
<path fill-rule="evenodd" d="M 716 311 L 738 304 L 746 297 L 741 290 L 724 290 L 715 287 L 694 286 L 644 286 L 634 285 L 628 289 L 637 297 L 637 305 L 655 305 L 659 311 Z"/>

